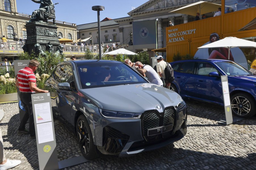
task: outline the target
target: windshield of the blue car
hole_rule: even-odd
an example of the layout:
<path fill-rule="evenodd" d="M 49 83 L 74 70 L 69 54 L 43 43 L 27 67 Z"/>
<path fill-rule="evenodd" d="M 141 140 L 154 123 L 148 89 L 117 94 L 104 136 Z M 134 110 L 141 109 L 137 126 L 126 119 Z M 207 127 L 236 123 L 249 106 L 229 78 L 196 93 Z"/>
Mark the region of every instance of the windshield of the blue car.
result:
<path fill-rule="evenodd" d="M 225 72 L 228 76 L 245 76 L 248 74 L 253 75 L 251 72 L 246 70 L 244 67 L 232 62 L 232 61 L 225 61 L 225 62 L 216 62 L 215 63 L 223 72 Z"/>

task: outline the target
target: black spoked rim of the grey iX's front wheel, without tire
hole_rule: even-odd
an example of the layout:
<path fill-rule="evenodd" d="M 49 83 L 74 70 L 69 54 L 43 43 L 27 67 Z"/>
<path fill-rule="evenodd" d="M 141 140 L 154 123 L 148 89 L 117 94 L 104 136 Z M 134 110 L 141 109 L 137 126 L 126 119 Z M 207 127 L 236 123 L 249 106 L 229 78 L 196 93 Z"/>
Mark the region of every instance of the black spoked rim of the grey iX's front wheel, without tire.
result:
<path fill-rule="evenodd" d="M 77 138 L 83 154 L 88 155 L 90 150 L 90 138 L 85 122 L 80 120 L 77 124 Z"/>

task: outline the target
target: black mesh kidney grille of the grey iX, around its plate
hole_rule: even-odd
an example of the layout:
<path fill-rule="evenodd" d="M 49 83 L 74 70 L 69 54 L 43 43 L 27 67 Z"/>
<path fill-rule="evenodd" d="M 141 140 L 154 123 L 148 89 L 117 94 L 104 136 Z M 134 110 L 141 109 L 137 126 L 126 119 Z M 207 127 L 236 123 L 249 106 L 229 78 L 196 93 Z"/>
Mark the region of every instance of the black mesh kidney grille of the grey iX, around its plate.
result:
<path fill-rule="evenodd" d="M 173 129 L 175 129 L 175 113 L 176 112 L 174 108 L 165 109 L 163 117 L 161 118 L 160 113 L 157 111 L 145 112 L 142 116 L 142 135 L 146 141 L 150 139 L 154 140 L 163 139 L 163 137 L 169 137 L 173 130 L 158 135 L 148 136 L 148 129 L 166 126 L 169 124 L 173 124 Z"/>

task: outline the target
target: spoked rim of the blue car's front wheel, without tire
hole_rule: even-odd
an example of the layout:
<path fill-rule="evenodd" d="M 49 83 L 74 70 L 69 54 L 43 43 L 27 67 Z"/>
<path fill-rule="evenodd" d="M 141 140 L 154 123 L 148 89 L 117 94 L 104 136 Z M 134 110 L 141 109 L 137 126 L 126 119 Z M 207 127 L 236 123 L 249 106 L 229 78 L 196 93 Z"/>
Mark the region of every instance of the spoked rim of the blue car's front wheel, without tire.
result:
<path fill-rule="evenodd" d="M 251 110 L 251 104 L 249 100 L 243 96 L 235 97 L 231 102 L 232 110 L 237 115 L 247 115 Z"/>

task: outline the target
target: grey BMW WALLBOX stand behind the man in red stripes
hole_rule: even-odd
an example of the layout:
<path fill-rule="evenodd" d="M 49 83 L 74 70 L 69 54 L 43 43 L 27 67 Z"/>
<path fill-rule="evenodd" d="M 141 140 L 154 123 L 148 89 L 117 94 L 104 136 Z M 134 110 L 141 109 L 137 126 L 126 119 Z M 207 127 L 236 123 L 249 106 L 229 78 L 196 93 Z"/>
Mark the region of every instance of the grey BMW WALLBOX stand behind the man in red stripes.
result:
<path fill-rule="evenodd" d="M 14 60 L 14 72 L 15 72 L 15 77 L 18 74 L 18 71 L 22 68 L 25 68 L 28 66 L 30 60 Z M 20 113 L 20 120 L 23 118 L 25 114 L 25 109 L 20 101 L 20 90 L 18 87 L 17 88 L 17 95 L 18 95 L 18 104 L 19 104 L 19 113 Z"/>

